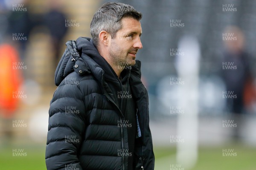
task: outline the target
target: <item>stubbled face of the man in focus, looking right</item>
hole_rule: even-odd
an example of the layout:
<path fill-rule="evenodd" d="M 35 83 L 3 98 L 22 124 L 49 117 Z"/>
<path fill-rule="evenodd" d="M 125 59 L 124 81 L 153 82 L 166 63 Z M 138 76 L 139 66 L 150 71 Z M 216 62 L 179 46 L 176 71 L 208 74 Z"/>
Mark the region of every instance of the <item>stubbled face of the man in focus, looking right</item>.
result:
<path fill-rule="evenodd" d="M 116 65 L 134 65 L 136 53 L 141 49 L 142 34 L 140 21 L 131 17 L 122 19 L 122 28 L 111 39 L 109 56 Z"/>

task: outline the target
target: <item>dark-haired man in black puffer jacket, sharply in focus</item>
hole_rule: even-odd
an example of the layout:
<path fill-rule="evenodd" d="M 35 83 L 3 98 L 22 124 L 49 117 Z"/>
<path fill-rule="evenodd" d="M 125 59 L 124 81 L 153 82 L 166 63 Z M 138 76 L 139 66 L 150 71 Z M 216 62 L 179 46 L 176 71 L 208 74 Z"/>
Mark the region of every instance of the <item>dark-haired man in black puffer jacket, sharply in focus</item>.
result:
<path fill-rule="evenodd" d="M 154 170 L 148 94 L 135 60 L 142 14 L 105 3 L 55 72 L 46 147 L 48 170 Z"/>

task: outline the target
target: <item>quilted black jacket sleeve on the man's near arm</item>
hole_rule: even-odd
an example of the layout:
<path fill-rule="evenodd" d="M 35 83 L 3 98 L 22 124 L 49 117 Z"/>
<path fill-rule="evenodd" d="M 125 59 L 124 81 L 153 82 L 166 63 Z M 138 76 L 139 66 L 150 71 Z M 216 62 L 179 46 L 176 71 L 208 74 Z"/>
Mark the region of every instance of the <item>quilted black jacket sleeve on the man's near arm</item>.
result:
<path fill-rule="evenodd" d="M 49 108 L 45 155 L 47 170 L 82 170 L 78 155 L 85 129 L 84 112 L 79 85 L 62 82 Z"/>

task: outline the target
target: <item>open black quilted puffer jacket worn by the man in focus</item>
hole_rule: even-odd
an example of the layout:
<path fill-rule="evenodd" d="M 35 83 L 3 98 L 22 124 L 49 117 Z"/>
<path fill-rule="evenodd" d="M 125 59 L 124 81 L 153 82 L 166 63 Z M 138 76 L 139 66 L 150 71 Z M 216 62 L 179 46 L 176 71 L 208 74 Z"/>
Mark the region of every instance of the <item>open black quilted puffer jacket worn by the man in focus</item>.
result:
<path fill-rule="evenodd" d="M 78 44 L 82 48 L 76 49 Z M 49 108 L 47 170 L 127 170 L 127 155 L 119 153 L 128 150 L 127 129 L 118 125 L 124 116 L 111 98 L 104 70 L 92 59 L 100 55 L 90 38 L 79 37 L 66 45 Z M 140 61 L 128 72 L 137 105 L 134 167 L 154 170 L 148 94 L 140 80 Z"/>

